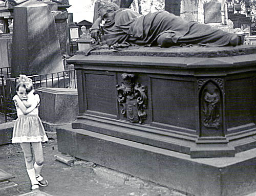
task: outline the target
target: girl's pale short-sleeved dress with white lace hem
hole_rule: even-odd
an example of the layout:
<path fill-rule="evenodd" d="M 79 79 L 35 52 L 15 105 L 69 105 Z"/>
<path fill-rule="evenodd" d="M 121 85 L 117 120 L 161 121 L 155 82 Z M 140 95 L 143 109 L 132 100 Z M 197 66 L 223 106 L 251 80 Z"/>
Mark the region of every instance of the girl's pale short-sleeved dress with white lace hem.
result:
<path fill-rule="evenodd" d="M 13 127 L 12 143 L 48 141 L 45 128 L 38 116 L 39 95 L 34 95 L 34 98 L 37 100 L 38 105 L 29 114 L 24 115 L 22 110 L 16 107 L 18 118 Z"/>

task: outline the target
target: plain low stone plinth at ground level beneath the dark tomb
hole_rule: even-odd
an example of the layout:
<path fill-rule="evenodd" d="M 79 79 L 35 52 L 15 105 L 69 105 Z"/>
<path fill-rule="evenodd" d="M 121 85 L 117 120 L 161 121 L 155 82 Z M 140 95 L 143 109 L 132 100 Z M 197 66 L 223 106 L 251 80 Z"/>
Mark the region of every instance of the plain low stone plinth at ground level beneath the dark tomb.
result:
<path fill-rule="evenodd" d="M 256 149 L 235 157 L 196 158 L 70 125 L 57 129 L 58 150 L 199 196 L 234 196 L 256 191 Z M 69 147 L 67 147 L 69 146 Z"/>

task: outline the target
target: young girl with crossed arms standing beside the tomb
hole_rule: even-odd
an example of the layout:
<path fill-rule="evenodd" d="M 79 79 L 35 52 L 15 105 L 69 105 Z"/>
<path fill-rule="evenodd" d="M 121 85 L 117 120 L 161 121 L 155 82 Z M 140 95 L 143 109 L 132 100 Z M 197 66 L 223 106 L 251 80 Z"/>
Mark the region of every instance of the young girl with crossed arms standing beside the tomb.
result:
<path fill-rule="evenodd" d="M 20 143 L 23 149 L 31 189 L 47 186 L 48 182 L 40 171 L 44 163 L 41 142 L 48 141 L 44 126 L 38 116 L 39 95 L 34 95 L 33 83 L 26 75 L 20 75 L 16 85 L 17 95 L 13 97 L 17 109 L 17 120 L 13 127 L 12 143 Z M 33 153 L 35 163 L 33 164 Z"/>

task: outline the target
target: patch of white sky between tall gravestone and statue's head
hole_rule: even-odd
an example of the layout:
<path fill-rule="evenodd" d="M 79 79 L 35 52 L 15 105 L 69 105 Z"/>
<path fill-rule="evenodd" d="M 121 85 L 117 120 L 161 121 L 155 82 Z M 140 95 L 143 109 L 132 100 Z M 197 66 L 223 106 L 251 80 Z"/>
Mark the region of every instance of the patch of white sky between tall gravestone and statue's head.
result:
<path fill-rule="evenodd" d="M 79 23 L 82 20 L 93 21 L 93 8 L 88 10 L 86 6 L 90 5 L 91 1 L 81 1 L 81 0 L 69 0 L 71 7 L 68 12 L 73 13 L 74 22 Z"/>

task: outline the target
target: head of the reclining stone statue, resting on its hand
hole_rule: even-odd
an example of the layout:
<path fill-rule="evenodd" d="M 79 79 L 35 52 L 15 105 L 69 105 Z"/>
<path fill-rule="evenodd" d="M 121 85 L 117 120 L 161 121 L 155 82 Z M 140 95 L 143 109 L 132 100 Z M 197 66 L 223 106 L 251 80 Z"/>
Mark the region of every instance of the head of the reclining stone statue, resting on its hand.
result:
<path fill-rule="evenodd" d="M 119 10 L 119 6 L 115 3 L 101 1 L 98 7 L 98 15 L 102 17 L 107 23 L 114 20 L 115 12 Z"/>

